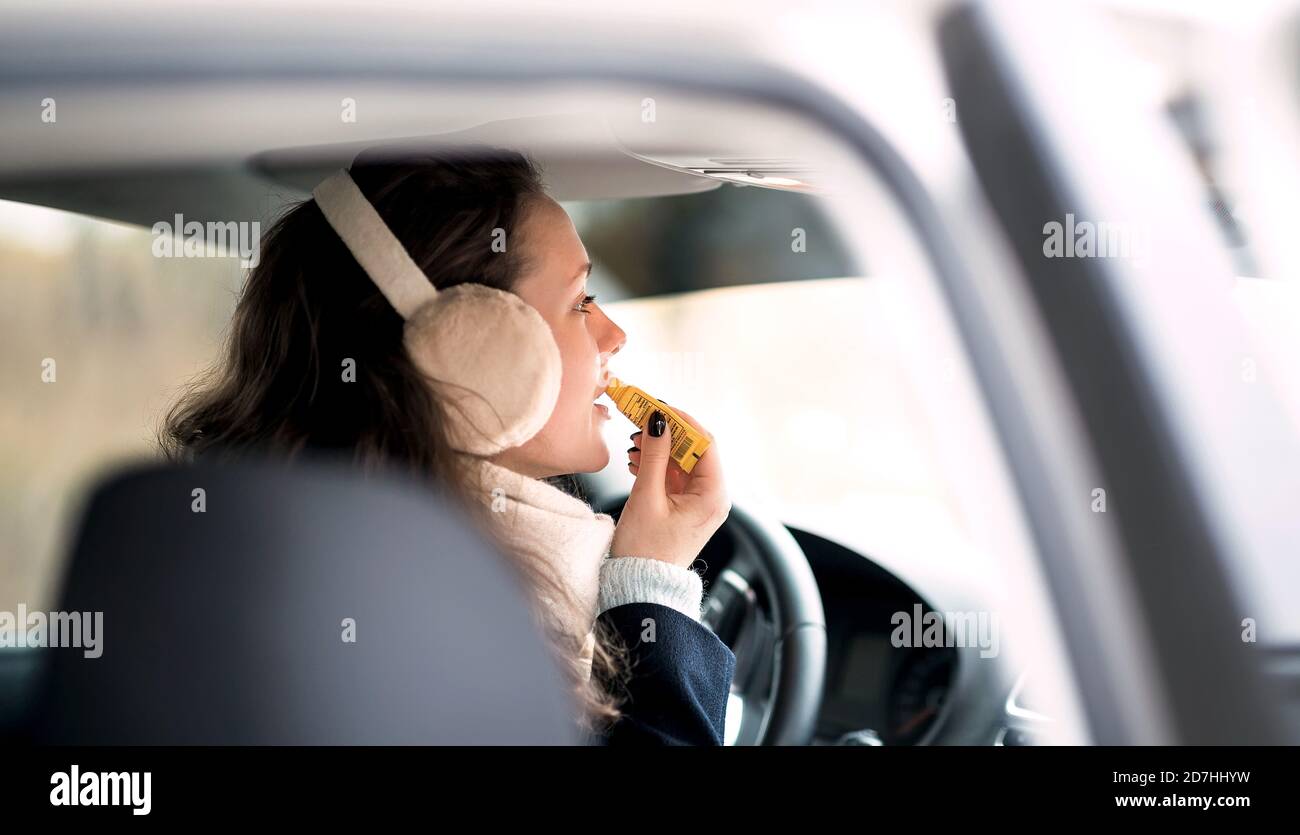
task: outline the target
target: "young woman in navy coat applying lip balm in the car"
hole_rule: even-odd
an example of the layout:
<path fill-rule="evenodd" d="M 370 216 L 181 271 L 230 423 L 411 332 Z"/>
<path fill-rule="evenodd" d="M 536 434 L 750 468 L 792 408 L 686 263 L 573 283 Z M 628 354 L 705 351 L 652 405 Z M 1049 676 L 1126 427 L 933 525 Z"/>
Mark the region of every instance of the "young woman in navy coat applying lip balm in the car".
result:
<path fill-rule="evenodd" d="M 350 172 L 434 287 L 488 285 L 542 316 L 563 365 L 545 427 L 493 455 L 452 444 L 452 407 L 407 354 L 402 316 L 307 200 L 266 232 L 226 354 L 172 410 L 164 450 L 344 453 L 450 486 L 534 590 L 590 741 L 720 744 L 734 657 L 699 623 L 690 568 L 731 509 L 716 438 L 686 475 L 662 418 L 632 434 L 636 483 L 616 525 L 562 489 L 608 463 L 608 414 L 593 401 L 627 334 L 586 293 L 586 250 L 536 165 L 499 150 L 378 150 Z"/>

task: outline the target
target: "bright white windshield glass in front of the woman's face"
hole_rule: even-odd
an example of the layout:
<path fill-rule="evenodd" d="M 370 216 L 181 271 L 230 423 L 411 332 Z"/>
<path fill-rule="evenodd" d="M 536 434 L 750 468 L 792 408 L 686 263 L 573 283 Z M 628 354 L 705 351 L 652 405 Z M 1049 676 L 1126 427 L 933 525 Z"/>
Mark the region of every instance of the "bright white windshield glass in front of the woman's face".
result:
<path fill-rule="evenodd" d="M 737 502 L 864 553 L 957 528 L 879 282 L 844 277 L 619 302 L 620 378 L 681 404 L 724 449 Z M 627 421 L 607 427 L 627 446 Z M 606 477 L 625 481 L 621 455 Z"/>

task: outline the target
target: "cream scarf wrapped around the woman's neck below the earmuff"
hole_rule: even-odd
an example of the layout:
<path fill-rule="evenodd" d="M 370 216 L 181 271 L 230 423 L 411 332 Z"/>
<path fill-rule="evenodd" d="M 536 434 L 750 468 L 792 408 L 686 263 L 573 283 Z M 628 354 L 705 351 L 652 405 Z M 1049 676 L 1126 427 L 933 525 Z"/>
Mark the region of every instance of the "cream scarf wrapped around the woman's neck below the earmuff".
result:
<path fill-rule="evenodd" d="M 581 609 L 578 622 L 564 618 L 555 601 L 551 606 L 556 626 L 582 641 L 578 657 L 586 676 L 592 674 L 595 649 L 597 597 L 601 564 L 614 540 L 614 518 L 595 512 L 586 502 L 542 481 L 507 470 L 485 458 L 468 458 L 477 467 L 481 496 L 491 512 L 498 535 L 516 554 L 540 559 L 551 576 L 575 597 Z"/>

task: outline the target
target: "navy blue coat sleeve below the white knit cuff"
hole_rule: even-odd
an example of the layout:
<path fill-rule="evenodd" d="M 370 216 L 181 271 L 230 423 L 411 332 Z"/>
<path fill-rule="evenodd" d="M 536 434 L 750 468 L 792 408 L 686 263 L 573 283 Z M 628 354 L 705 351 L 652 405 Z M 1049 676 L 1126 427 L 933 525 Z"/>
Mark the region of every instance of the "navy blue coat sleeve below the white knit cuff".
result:
<path fill-rule="evenodd" d="M 632 666 L 623 717 L 599 745 L 722 745 L 736 656 L 707 627 L 660 603 L 601 614 Z M 651 632 L 653 627 L 653 632 Z M 651 637 L 651 640 L 642 640 Z"/>

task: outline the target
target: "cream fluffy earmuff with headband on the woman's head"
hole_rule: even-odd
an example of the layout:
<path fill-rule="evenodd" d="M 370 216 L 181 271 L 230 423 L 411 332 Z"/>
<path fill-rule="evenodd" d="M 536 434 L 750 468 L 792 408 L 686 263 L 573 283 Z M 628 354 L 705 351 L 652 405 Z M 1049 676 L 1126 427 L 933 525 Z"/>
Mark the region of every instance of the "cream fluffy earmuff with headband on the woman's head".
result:
<path fill-rule="evenodd" d="M 559 346 L 541 313 L 482 284 L 437 290 L 346 169 L 312 196 L 406 320 L 403 342 L 446 403 L 452 447 L 493 455 L 537 434 L 559 399 L 562 376 Z"/>

